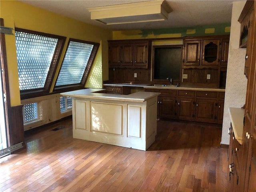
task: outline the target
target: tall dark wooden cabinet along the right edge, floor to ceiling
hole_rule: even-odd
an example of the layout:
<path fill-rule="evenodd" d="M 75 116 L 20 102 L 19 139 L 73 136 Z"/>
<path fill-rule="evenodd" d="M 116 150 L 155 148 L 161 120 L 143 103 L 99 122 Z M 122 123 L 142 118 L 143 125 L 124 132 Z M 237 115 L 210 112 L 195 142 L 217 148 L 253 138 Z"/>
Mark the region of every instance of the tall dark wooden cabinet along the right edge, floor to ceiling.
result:
<path fill-rule="evenodd" d="M 245 74 L 248 78 L 244 127 L 242 133 L 242 158 L 238 182 L 230 183 L 231 192 L 256 191 L 256 3 L 247 1 L 239 18 L 241 23 L 240 47 L 246 47 Z M 239 159 L 238 159 L 239 160 Z"/>

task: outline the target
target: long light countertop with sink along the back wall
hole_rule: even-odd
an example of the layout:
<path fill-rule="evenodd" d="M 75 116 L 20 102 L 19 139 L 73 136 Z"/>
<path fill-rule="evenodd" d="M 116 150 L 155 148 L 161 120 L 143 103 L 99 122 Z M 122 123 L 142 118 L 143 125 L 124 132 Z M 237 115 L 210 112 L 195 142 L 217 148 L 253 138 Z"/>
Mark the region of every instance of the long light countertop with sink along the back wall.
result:
<path fill-rule="evenodd" d="M 218 91 L 218 92 L 225 92 L 225 89 L 220 88 L 205 88 L 200 86 L 179 86 L 176 87 L 175 85 L 166 85 L 166 86 L 152 86 L 150 84 L 131 84 L 131 83 L 112 83 L 112 84 L 104 84 L 104 86 L 129 86 L 129 87 L 143 87 L 143 88 L 151 88 L 151 89 L 171 89 L 171 90 L 196 90 L 196 91 Z"/>

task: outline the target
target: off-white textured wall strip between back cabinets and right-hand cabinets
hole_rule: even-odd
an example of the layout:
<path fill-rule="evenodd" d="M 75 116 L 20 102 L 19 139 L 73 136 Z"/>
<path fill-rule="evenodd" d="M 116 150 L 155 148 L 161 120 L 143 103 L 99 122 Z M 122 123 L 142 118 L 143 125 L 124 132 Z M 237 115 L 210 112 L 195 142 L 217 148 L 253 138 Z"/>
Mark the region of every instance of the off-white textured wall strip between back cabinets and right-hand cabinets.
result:
<path fill-rule="evenodd" d="M 244 62 L 246 49 L 239 48 L 241 25 L 238 22 L 245 3 L 246 1 L 233 2 L 221 144 L 229 144 L 228 128 L 231 120 L 228 108 L 241 108 L 245 104 L 247 79 L 244 75 Z"/>

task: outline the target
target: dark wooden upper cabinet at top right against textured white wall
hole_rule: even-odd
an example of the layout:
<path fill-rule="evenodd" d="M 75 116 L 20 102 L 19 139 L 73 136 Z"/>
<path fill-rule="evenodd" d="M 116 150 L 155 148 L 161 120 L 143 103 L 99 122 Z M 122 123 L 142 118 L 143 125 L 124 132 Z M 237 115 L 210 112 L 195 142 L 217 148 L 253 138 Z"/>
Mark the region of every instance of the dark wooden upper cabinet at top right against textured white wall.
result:
<path fill-rule="evenodd" d="M 238 21 L 241 23 L 241 30 L 240 30 L 240 48 L 246 48 L 246 55 L 245 55 L 245 66 L 244 66 L 244 74 L 248 77 L 251 54 L 252 54 L 252 41 L 248 41 L 248 39 L 252 39 L 252 34 L 254 26 L 254 1 L 247 1 L 244 9 Z"/>

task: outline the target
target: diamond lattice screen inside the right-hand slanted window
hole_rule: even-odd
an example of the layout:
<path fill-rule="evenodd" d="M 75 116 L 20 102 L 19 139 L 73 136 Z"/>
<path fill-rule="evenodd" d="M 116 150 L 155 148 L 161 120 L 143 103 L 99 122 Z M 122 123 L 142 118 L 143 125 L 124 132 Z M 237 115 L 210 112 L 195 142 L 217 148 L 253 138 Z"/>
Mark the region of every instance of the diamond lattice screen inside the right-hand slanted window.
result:
<path fill-rule="evenodd" d="M 93 47 L 92 44 L 70 41 L 56 86 L 81 83 Z"/>

